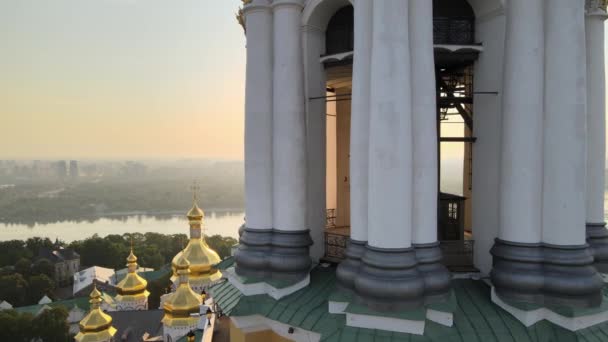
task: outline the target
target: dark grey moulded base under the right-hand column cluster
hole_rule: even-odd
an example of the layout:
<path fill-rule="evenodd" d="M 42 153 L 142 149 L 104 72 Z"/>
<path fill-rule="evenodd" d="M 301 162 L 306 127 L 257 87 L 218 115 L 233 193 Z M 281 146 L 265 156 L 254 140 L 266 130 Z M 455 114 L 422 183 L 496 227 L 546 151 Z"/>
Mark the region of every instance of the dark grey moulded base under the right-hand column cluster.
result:
<path fill-rule="evenodd" d="M 588 245 L 555 246 L 496 239 L 490 277 L 502 299 L 540 306 L 597 307 L 603 281 Z"/>

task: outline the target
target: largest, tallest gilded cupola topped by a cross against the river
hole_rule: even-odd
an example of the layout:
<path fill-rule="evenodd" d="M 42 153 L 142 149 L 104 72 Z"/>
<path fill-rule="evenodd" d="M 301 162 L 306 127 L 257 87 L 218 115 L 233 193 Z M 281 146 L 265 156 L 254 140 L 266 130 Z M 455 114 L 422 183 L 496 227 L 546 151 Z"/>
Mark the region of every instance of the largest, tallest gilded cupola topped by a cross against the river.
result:
<path fill-rule="evenodd" d="M 202 232 L 205 214 L 197 203 L 197 189 L 196 186 L 193 186 L 193 204 L 190 211 L 186 214 L 190 225 L 190 240 L 188 241 L 186 248 L 179 252 L 171 262 L 173 268 L 173 277 L 171 280 L 174 284 L 176 283 L 178 278 L 176 264 L 178 259 L 181 256 L 184 256 L 190 263 L 190 286 L 195 288 L 197 292 L 200 292 L 208 286 L 209 283 L 220 279 L 222 274 L 213 267 L 213 265 L 219 263 L 221 259 L 219 255 L 207 245 L 205 236 Z"/>

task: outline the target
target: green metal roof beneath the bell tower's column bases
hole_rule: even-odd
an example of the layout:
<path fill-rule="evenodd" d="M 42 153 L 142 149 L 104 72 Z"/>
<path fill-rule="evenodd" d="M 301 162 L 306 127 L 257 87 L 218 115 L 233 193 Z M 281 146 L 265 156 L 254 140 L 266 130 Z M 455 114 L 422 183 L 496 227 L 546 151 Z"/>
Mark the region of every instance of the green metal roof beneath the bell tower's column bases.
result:
<path fill-rule="evenodd" d="M 490 287 L 482 281 L 454 280 L 454 326 L 426 321 L 424 335 L 347 327 L 345 315 L 328 312 L 328 298 L 335 289 L 335 268 L 317 267 L 310 285 L 280 300 L 267 295 L 243 296 L 230 283 L 211 288 L 224 313 L 231 316 L 259 314 L 284 324 L 321 334 L 321 341 L 608 341 L 608 323 L 571 332 L 548 321 L 526 328 L 490 300 Z"/>

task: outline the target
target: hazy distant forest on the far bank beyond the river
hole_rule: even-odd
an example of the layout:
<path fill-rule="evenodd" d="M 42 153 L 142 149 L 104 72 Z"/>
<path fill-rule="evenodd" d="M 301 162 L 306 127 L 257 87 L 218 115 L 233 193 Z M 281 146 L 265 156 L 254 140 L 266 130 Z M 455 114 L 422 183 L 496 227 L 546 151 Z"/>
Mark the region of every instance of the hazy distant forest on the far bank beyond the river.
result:
<path fill-rule="evenodd" d="M 110 171 L 77 178 L 37 177 L 31 173 L 27 177 L 3 176 L 0 223 L 33 225 L 94 221 L 129 213 L 185 213 L 192 205 L 195 180 L 200 188 L 199 204 L 206 211 L 244 207 L 242 162 L 183 164 L 145 166 L 137 173 L 106 167 Z"/>

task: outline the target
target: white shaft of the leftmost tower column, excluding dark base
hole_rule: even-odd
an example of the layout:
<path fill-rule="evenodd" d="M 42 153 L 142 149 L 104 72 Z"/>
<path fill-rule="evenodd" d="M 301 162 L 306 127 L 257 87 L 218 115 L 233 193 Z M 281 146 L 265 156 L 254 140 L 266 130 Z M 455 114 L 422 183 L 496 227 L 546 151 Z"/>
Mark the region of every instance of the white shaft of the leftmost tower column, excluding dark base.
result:
<path fill-rule="evenodd" d="M 269 0 L 245 6 L 245 217 L 272 228 L 272 13 Z"/>

